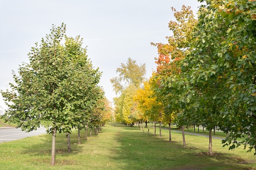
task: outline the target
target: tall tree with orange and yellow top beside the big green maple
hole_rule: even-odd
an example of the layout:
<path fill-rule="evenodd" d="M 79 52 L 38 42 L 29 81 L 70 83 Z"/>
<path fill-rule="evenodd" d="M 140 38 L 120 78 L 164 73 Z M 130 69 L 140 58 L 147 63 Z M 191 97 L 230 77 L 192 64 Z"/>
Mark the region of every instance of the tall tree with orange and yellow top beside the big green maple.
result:
<path fill-rule="evenodd" d="M 169 22 L 169 29 L 173 32 L 173 35 L 167 37 L 168 44 L 151 43 L 157 46 L 159 54 L 155 58 L 157 64 L 155 77 L 159 79 L 159 86 L 155 88 L 155 91 L 158 98 L 165 101 L 164 108 L 168 110 L 168 117 L 172 117 L 173 113 L 181 116 L 181 113 L 184 113 L 184 109 L 181 109 L 185 105 L 182 106 L 181 94 L 183 93 L 184 80 L 182 74 L 180 74 L 180 63 L 182 63 L 186 55 L 191 53 L 191 45 L 193 44 L 191 33 L 197 23 L 190 7 L 182 6 L 182 11 L 180 12 L 176 11 L 173 7 L 172 10 L 175 12 L 176 21 Z M 177 120 L 182 128 L 184 128 L 183 126 L 186 124 L 186 121 L 182 118 Z M 184 138 L 184 133 L 182 136 Z"/>

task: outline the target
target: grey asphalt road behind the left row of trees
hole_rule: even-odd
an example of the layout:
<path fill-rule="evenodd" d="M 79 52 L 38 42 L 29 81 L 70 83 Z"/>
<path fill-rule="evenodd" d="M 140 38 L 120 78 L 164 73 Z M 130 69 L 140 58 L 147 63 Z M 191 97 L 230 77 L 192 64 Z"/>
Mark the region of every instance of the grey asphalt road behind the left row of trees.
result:
<path fill-rule="evenodd" d="M 0 128 L 0 143 L 45 134 L 46 129 L 40 127 L 31 132 L 21 131 L 20 128 Z"/>

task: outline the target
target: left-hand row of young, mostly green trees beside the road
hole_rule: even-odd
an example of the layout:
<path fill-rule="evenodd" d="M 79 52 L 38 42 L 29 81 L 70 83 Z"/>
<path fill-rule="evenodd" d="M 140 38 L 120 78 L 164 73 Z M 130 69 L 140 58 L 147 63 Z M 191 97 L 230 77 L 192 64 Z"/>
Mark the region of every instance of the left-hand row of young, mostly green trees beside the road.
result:
<path fill-rule="evenodd" d="M 87 130 L 112 119 L 110 103 L 97 85 L 99 68 L 92 66 L 82 39 L 67 37 L 65 30 L 65 24 L 53 26 L 41 44 L 32 47 L 30 62 L 20 66 L 18 75 L 13 72 L 11 90 L 1 91 L 9 107 L 7 121 L 27 132 L 44 126 L 52 134 L 51 165 L 57 132 L 65 132 L 69 140 L 73 128 Z"/>

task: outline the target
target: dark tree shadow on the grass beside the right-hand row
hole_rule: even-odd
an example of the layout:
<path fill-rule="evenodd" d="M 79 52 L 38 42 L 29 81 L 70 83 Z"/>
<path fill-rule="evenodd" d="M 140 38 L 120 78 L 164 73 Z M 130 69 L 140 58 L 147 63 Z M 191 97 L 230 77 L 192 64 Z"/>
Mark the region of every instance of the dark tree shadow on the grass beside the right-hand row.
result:
<path fill-rule="evenodd" d="M 169 143 L 152 137 L 152 134 L 138 131 L 137 128 L 122 124 L 111 124 L 111 126 L 122 128 L 115 135 L 119 145 L 112 150 L 115 152 L 112 159 L 120 162 L 120 169 L 250 170 L 243 164 L 245 160 L 239 157 L 231 157 L 225 153 L 214 153 L 213 156 L 209 156 L 200 148 L 183 147 L 181 142 Z"/>

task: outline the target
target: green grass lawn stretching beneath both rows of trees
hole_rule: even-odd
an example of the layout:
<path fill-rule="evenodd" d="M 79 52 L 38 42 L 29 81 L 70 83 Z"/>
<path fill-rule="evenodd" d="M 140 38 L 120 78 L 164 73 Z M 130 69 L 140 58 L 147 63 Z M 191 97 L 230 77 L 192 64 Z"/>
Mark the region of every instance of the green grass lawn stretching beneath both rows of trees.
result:
<path fill-rule="evenodd" d="M 159 132 L 159 131 L 158 131 Z M 208 156 L 207 137 L 186 135 L 182 145 L 180 132 L 162 130 L 162 139 L 142 132 L 138 127 L 108 124 L 99 135 L 82 138 L 71 135 L 71 153 L 67 153 L 65 134 L 56 136 L 56 166 L 49 166 L 51 135 L 27 137 L 0 144 L 0 169 L 4 170 L 256 170 L 253 152 L 243 148 L 228 150 L 221 140 L 213 139 L 213 156 Z M 85 132 L 81 133 L 81 137 Z"/>

